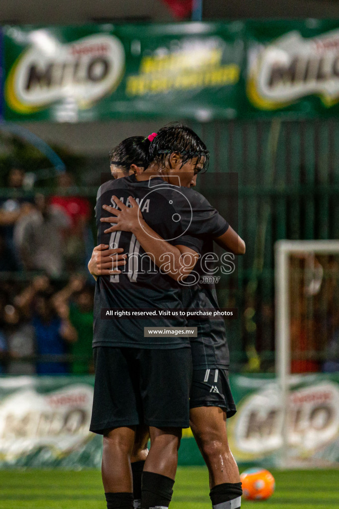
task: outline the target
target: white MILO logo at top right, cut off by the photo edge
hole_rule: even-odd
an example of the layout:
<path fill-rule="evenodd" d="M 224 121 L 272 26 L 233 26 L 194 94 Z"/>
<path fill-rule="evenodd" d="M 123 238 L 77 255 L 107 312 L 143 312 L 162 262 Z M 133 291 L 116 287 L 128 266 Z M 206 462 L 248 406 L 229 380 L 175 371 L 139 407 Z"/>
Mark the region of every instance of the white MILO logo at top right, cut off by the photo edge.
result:
<path fill-rule="evenodd" d="M 339 100 L 339 30 L 304 39 L 299 32 L 257 46 L 249 55 L 247 93 L 260 109 L 278 109 L 308 95 L 330 107 Z"/>

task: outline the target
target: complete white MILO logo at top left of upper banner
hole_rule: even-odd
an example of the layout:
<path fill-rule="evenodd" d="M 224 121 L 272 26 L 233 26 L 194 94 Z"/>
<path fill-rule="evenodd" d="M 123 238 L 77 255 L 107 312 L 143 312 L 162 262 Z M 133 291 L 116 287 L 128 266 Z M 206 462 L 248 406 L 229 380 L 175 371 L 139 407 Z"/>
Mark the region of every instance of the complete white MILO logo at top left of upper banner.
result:
<path fill-rule="evenodd" d="M 61 44 L 53 34 L 37 30 L 16 60 L 5 86 L 7 104 L 30 114 L 55 103 L 89 108 L 111 93 L 125 68 L 125 50 L 113 35 L 90 35 Z"/>

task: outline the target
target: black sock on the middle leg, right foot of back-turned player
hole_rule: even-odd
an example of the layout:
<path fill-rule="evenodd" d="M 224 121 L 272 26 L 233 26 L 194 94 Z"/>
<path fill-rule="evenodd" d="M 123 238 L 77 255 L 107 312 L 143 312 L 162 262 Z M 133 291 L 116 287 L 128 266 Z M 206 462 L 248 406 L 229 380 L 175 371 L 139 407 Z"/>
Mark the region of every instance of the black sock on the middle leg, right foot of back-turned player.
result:
<path fill-rule="evenodd" d="M 168 507 L 172 499 L 174 480 L 153 472 L 142 473 L 141 509 Z"/>

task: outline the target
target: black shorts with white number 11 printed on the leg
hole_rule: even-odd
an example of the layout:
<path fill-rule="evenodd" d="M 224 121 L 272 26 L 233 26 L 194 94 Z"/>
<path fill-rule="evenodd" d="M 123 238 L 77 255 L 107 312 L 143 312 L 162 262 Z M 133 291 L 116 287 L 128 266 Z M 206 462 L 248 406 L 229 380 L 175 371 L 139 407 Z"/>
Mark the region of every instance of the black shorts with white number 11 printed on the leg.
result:
<path fill-rule="evenodd" d="M 194 370 L 190 397 L 190 408 L 220 407 L 227 418 L 236 412 L 228 370 Z"/>

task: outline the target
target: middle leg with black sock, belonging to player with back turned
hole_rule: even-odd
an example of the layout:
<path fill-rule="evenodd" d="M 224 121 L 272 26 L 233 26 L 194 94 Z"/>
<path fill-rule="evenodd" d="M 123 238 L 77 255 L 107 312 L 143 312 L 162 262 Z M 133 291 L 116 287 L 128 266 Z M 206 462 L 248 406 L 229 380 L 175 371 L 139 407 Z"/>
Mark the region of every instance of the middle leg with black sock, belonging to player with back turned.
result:
<path fill-rule="evenodd" d="M 150 449 L 142 474 L 141 508 L 166 508 L 173 494 L 181 428 L 149 428 Z"/>

